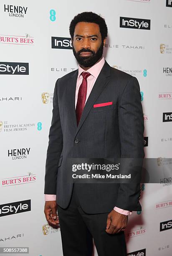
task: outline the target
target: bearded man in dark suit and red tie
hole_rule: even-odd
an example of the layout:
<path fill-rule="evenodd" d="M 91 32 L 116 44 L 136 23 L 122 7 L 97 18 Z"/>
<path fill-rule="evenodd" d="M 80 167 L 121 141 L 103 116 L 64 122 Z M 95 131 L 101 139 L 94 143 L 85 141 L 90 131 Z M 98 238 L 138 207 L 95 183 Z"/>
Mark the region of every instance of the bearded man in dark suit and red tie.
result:
<path fill-rule="evenodd" d="M 73 183 L 69 158 L 144 158 L 139 83 L 102 57 L 105 20 L 92 12 L 70 24 L 78 69 L 57 80 L 45 175 L 45 215 L 61 227 L 64 256 L 126 256 L 128 215 L 141 210 L 140 183 Z M 58 210 L 58 215 L 57 215 Z"/>

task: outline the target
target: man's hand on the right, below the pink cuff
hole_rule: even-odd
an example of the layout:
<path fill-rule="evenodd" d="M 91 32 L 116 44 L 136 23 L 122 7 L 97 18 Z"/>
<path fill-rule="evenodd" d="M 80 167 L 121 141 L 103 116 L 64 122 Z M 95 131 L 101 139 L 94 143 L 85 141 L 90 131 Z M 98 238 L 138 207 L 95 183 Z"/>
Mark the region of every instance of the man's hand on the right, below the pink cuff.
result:
<path fill-rule="evenodd" d="M 126 228 L 128 215 L 116 212 L 114 209 L 107 217 L 106 232 L 109 234 L 119 233 Z"/>

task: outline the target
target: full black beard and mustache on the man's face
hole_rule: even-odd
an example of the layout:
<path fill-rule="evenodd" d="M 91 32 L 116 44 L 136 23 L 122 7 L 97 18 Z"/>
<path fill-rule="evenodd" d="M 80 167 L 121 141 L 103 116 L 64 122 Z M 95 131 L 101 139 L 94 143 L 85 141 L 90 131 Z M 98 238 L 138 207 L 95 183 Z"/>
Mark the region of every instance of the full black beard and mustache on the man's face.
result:
<path fill-rule="evenodd" d="M 91 51 L 90 49 L 81 49 L 78 52 L 75 51 L 74 47 L 72 47 L 72 49 L 73 49 L 73 54 L 74 54 L 76 60 L 78 61 L 78 63 L 80 64 L 80 66 L 92 67 L 102 57 L 103 47 L 104 47 L 104 44 L 102 42 L 100 48 L 98 49 L 98 51 L 96 53 L 95 53 L 95 51 Z M 81 52 L 91 52 L 92 55 L 89 57 L 82 57 L 80 55 Z"/>

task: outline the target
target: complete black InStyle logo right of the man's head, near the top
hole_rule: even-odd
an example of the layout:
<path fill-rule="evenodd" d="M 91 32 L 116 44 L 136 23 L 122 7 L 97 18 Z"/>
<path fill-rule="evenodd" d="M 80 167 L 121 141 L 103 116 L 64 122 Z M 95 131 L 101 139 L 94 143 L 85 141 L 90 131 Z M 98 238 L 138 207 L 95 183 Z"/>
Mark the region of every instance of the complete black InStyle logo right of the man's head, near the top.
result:
<path fill-rule="evenodd" d="M 136 28 L 150 30 L 150 20 L 120 17 L 120 28 Z"/>

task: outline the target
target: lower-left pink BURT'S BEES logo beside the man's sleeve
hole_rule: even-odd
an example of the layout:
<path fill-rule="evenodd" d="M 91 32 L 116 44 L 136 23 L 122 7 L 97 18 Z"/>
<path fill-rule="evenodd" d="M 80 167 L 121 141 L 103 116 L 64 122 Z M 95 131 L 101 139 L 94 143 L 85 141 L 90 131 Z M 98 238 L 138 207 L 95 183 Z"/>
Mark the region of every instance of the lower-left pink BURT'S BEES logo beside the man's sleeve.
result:
<path fill-rule="evenodd" d="M 0 185 L 1 187 L 9 187 L 14 185 L 21 185 L 26 183 L 36 182 L 36 175 L 32 174 L 32 172 L 28 172 L 28 175 L 16 176 L 16 177 L 8 177 L 1 179 Z"/>

